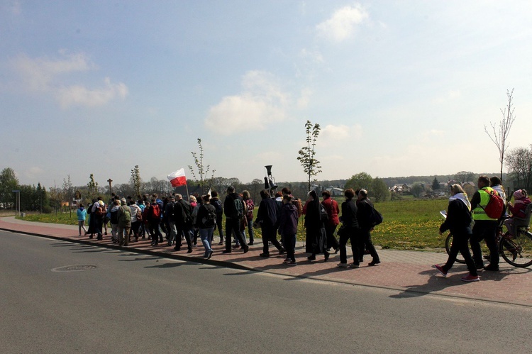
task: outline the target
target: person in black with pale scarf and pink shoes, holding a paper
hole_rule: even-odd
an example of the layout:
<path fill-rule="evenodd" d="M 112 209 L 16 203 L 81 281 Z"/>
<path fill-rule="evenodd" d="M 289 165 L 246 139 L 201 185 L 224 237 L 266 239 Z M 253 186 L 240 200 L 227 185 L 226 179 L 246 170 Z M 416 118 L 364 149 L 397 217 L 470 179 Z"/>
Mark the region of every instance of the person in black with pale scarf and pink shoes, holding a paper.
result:
<path fill-rule="evenodd" d="M 453 184 L 450 186 L 449 207 L 447 211 L 447 218 L 440 226 L 440 235 L 447 230 L 453 234 L 453 245 L 450 246 L 449 258 L 445 265 L 434 265 L 443 277 L 447 276 L 447 272 L 453 267 L 458 252 L 465 259 L 467 270 L 469 274 L 462 277 L 464 282 L 477 282 L 480 280 L 477 275 L 477 267 L 475 261 L 471 257 L 467 241 L 472 236 L 471 231 L 471 204 L 467 199 L 467 194 L 460 186 L 460 184 Z"/>

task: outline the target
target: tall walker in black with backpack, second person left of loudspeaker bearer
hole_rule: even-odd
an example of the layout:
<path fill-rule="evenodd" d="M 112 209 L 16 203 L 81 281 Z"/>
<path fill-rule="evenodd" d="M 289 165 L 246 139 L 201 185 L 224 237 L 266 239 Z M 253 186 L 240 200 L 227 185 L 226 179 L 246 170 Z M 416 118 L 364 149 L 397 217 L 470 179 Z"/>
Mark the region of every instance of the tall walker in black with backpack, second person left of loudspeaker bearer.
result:
<path fill-rule="evenodd" d="M 245 218 L 244 210 L 244 199 L 235 192 L 235 187 L 227 187 L 227 197 L 223 201 L 223 213 L 226 214 L 226 249 L 223 253 L 231 253 L 231 234 L 233 233 L 242 245 L 244 253 L 250 250 L 240 231 L 240 223 Z"/>

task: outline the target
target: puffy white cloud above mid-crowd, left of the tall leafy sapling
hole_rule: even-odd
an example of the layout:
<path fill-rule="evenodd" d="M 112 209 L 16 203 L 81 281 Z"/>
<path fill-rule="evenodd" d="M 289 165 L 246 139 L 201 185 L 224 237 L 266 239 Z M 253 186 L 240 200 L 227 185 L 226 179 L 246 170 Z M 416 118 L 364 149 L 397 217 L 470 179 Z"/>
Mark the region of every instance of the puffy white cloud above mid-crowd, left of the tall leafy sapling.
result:
<path fill-rule="evenodd" d="M 267 123 L 286 118 L 284 110 L 289 94 L 282 91 L 270 73 L 251 71 L 242 80 L 243 92 L 225 96 L 211 107 L 205 126 L 212 131 L 229 135 L 241 131 L 263 130 Z"/>

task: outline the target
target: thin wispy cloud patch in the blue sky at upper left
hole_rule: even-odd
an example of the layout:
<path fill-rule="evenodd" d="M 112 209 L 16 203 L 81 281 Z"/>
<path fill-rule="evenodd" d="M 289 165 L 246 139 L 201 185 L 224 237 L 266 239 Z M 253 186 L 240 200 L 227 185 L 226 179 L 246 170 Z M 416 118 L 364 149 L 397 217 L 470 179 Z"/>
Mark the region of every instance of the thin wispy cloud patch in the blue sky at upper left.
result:
<path fill-rule="evenodd" d="M 69 106 L 100 106 L 111 99 L 125 98 L 128 94 L 126 84 L 111 84 L 111 79 L 104 79 L 104 87 L 88 89 L 82 84 L 67 85 L 63 80 L 68 74 L 96 70 L 97 67 L 84 53 L 67 53 L 60 51 L 62 58 L 48 57 L 30 58 L 21 55 L 13 61 L 16 70 L 21 74 L 26 89 L 33 92 L 52 94 L 62 108 Z"/>

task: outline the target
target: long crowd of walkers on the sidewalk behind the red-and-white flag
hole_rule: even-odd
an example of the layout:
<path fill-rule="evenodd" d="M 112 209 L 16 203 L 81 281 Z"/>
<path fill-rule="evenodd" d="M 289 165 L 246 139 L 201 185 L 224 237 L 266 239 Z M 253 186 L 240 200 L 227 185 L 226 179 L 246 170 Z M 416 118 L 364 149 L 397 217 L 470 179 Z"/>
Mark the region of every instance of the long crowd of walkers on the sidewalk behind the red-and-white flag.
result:
<path fill-rule="evenodd" d="M 216 230 L 218 245 L 225 245 L 223 253 L 237 249 L 247 253 L 249 246 L 255 242 L 254 229 L 260 228 L 260 257 L 270 257 L 270 248 L 275 247 L 279 255 L 286 255 L 284 264 L 297 265 L 297 229 L 303 215 L 305 252 L 310 254 L 307 260 L 314 261 L 316 255 L 323 254 L 323 261 L 326 262 L 331 253 L 340 252 L 337 267 L 358 268 L 365 254 L 372 256 L 369 265 L 380 263 L 370 233 L 370 218 L 374 209 L 365 189 L 345 190 L 341 217 L 338 217 L 338 202 L 331 198 L 328 191 L 321 193 L 323 199 L 320 201 L 316 191 L 312 190 L 306 195 L 304 205 L 287 188 L 274 195 L 270 195 L 270 192 L 269 189 L 260 191 L 261 201 L 256 216 L 250 192 L 245 190 L 239 194 L 232 186 L 227 188 L 223 201 L 216 191 L 201 197 L 191 195 L 188 200 L 182 194 L 165 197 L 147 194 L 134 199 L 121 198 L 113 193 L 107 203 L 98 197 L 87 208 L 79 204 L 79 236 L 82 236 L 83 231 L 89 238 L 96 236 L 98 240 L 103 240 L 110 228 L 111 240 L 119 246 L 128 246 L 139 239 L 150 239 L 153 246 L 165 245 L 177 251 L 186 245 L 187 253 L 192 253 L 199 238 L 205 248 L 204 257 L 209 259 L 214 252 L 212 245 Z M 222 224 L 223 216 L 225 225 Z M 85 228 L 87 217 L 88 229 Z M 340 221 L 342 225 L 337 233 Z M 348 240 L 353 253 L 351 264 L 347 260 Z"/>

